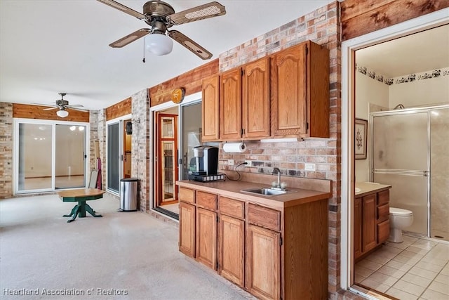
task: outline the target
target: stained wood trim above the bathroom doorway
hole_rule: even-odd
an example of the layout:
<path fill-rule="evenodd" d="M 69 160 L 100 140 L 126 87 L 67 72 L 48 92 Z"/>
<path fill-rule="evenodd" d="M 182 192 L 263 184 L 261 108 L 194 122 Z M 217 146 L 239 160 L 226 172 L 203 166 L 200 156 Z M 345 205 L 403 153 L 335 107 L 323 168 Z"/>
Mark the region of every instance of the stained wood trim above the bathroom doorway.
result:
<path fill-rule="evenodd" d="M 342 41 L 449 7 L 448 0 L 344 0 Z"/>

